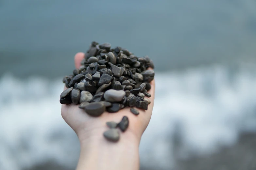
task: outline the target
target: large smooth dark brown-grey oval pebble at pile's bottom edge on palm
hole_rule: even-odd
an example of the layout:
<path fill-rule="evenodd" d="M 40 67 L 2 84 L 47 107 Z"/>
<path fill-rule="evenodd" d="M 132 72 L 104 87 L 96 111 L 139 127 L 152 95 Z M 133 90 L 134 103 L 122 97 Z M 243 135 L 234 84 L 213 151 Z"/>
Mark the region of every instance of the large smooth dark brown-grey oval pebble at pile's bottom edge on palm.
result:
<path fill-rule="evenodd" d="M 106 107 L 103 103 L 94 102 L 85 106 L 85 112 L 91 116 L 100 116 L 106 110 Z"/>

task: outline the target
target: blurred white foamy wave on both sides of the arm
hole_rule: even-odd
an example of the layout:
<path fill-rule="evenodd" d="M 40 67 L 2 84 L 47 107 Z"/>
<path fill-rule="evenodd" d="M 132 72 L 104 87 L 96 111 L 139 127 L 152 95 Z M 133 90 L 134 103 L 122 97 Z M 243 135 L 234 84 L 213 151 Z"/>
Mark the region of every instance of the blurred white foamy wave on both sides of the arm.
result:
<path fill-rule="evenodd" d="M 255 67 L 256 68 L 256 67 Z M 156 73 L 156 99 L 140 159 L 170 169 L 177 157 L 207 154 L 256 130 L 254 65 Z M 61 78 L 0 79 L 0 169 L 22 170 L 47 161 L 74 168 L 75 133 L 62 120 Z"/>

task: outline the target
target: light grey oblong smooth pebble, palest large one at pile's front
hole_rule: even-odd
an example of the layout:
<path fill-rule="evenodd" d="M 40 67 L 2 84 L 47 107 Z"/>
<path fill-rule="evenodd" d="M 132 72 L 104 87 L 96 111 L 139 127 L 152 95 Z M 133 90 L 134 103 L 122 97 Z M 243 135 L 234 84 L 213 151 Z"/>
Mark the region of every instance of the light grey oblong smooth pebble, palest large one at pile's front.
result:
<path fill-rule="evenodd" d="M 108 102 L 121 102 L 125 94 L 123 90 L 110 89 L 104 93 L 104 99 Z"/>

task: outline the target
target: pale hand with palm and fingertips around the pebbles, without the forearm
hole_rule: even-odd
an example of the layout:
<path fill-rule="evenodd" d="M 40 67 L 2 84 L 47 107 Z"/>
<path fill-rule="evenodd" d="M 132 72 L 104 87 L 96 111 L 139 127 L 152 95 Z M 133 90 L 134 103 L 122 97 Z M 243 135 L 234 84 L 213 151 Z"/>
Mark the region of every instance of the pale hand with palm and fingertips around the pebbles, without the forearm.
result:
<path fill-rule="evenodd" d="M 76 54 L 76 68 L 79 68 L 80 62 L 83 57 L 83 53 Z M 137 116 L 130 112 L 129 107 L 126 107 L 122 110 L 119 110 L 117 113 L 104 112 L 99 117 L 92 117 L 86 114 L 84 110 L 78 108 L 78 105 L 74 104 L 62 105 L 61 115 L 63 119 L 70 125 L 70 127 L 74 129 L 77 135 L 84 136 L 84 138 L 89 135 L 102 134 L 107 129 L 106 122 L 119 122 L 123 116 L 127 116 L 129 119 L 129 127 L 126 133 L 135 135 L 136 137 L 140 137 L 149 123 L 153 110 L 155 94 L 154 80 L 151 82 L 151 87 L 151 90 L 148 91 L 148 93 L 151 94 L 151 104 L 148 105 L 148 110 L 138 109 L 140 114 Z"/>

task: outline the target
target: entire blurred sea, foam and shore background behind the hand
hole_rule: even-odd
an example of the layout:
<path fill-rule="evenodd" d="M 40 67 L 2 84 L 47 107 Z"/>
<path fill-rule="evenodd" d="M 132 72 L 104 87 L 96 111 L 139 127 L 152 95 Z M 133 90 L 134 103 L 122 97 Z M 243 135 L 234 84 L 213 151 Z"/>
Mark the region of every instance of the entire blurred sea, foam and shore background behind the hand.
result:
<path fill-rule="evenodd" d="M 91 41 L 155 63 L 142 170 L 256 169 L 256 1 L 0 0 L 0 169 L 72 170 L 62 77 Z"/>

